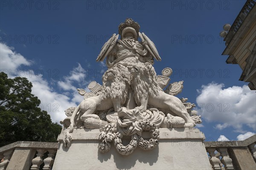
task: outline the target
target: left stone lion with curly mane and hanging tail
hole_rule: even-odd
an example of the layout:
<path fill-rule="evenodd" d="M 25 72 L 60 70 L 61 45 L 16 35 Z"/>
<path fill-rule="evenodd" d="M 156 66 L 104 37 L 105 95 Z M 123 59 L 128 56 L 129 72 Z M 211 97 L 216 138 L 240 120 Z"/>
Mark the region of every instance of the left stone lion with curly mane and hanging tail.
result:
<path fill-rule="evenodd" d="M 64 147 L 70 147 L 72 137 L 70 133 L 73 132 L 75 126 L 75 117 L 84 122 L 87 118 L 99 119 L 95 114 L 99 110 L 108 110 L 114 107 L 117 112 L 122 104 L 125 104 L 127 97 L 127 86 L 119 70 L 116 68 L 108 69 L 103 77 L 103 90 L 101 95 L 93 96 L 84 99 L 74 110 L 70 118 L 70 127 L 64 137 Z"/>

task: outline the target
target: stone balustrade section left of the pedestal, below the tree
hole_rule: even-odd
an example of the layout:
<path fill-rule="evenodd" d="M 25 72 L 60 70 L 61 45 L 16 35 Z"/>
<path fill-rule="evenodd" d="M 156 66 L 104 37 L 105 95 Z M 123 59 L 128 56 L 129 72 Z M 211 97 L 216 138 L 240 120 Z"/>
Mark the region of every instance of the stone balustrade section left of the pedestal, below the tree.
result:
<path fill-rule="evenodd" d="M 17 141 L 0 148 L 0 170 L 51 170 L 57 142 Z"/>

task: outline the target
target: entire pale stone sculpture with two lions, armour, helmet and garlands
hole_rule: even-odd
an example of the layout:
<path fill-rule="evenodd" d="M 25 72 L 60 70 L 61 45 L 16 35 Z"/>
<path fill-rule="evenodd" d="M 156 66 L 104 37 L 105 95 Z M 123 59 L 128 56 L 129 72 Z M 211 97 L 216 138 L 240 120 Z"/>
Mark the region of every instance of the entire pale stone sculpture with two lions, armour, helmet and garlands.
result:
<path fill-rule="evenodd" d="M 107 152 L 113 141 L 120 154 L 129 155 L 137 146 L 143 150 L 156 147 L 160 127 L 194 127 L 201 123 L 192 110 L 195 104 L 175 97 L 183 81 L 169 84 L 172 69 L 163 69 L 157 76 L 152 65 L 161 58 L 154 43 L 139 29 L 138 23 L 126 19 L 119 25 L 121 39 L 113 34 L 102 47 L 96 61 L 107 57 L 103 84 L 93 81 L 88 86 L 91 92 L 78 89 L 84 101 L 66 112 L 68 117 L 62 122 L 67 128 L 65 147 L 70 147 L 74 128 L 100 129 L 101 153 Z M 144 131 L 151 133 L 148 141 L 141 137 Z M 131 136 L 127 146 L 122 144 L 123 136 Z"/>

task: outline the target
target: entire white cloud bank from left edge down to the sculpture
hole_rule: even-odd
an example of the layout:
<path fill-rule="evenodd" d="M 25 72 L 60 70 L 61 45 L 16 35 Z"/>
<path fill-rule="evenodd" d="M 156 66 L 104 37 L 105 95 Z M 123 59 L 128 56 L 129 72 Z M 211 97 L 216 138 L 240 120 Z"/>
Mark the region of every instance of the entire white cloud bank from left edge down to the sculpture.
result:
<path fill-rule="evenodd" d="M 1 69 L 8 69 L 9 71 L 9 69 L 18 69 L 21 65 L 29 66 L 32 64 L 25 57 L 13 51 L 14 49 L 12 47 L 2 43 L 0 45 Z M 1 71 L 4 72 L 5 70 Z M 72 86 L 71 83 L 72 81 L 81 82 L 84 77 L 84 72 L 84 69 L 79 64 L 78 67 L 70 71 L 69 76 L 64 77 L 65 82 L 58 82 L 63 88 L 71 88 L 71 92 L 64 93 L 57 92 L 42 75 L 35 74 L 32 70 L 24 71 L 25 76 L 22 77 L 26 77 L 32 82 L 32 94 L 41 100 L 41 109 L 48 112 L 53 122 L 59 123 L 59 121 L 66 118 L 64 113 L 65 109 L 76 107 L 76 102 L 80 103 L 83 100 L 83 97 L 78 94 L 75 86 Z M 78 74 L 76 75 L 76 73 Z M 14 78 L 14 76 L 15 75 L 12 75 L 12 78 Z"/>

